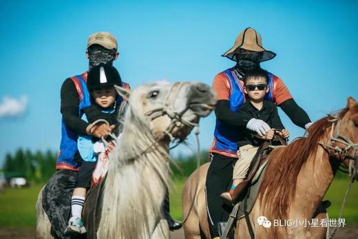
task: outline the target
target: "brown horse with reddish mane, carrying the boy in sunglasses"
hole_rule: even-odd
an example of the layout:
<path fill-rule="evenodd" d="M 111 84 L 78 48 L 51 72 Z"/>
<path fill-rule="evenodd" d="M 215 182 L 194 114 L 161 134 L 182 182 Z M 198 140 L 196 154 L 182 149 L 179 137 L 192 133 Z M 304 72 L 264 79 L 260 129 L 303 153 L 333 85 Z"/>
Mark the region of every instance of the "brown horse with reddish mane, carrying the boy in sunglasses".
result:
<path fill-rule="evenodd" d="M 273 150 L 268 159 L 266 174 L 259 196 L 249 218 L 255 238 L 325 238 L 326 227 L 271 227 L 258 225 L 257 218 L 268 220 L 308 220 L 326 218 L 322 199 L 333 180 L 339 163 L 354 162 L 353 176 L 358 177 L 358 104 L 348 98 L 344 110 L 314 123 L 306 138 L 299 138 L 287 147 Z M 335 148 L 335 149 L 334 149 Z M 354 161 L 353 161 L 354 160 Z M 193 210 L 185 222 L 185 238 L 211 238 L 205 200 L 205 178 L 209 163 L 199 171 L 199 191 Z M 191 198 L 195 194 L 194 172 L 182 191 L 182 215 L 188 214 Z M 220 205 L 218 205 L 219 207 Z M 235 238 L 251 238 L 244 218 L 236 222 Z"/>

